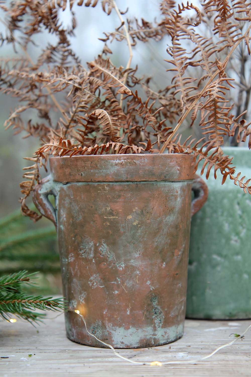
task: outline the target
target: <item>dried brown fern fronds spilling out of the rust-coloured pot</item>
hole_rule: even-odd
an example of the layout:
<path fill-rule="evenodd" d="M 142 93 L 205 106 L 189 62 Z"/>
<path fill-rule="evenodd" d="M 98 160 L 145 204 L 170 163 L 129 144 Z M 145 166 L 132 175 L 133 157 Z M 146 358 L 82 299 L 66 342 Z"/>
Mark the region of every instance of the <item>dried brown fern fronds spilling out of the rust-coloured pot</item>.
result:
<path fill-rule="evenodd" d="M 117 14 L 119 26 L 104 33 L 100 38 L 102 54 L 85 68 L 69 37 L 74 36 L 76 9 L 86 6 L 95 12 L 99 4 L 107 15 Z M 71 22 L 65 28 L 59 11 L 67 7 Z M 249 2 L 206 0 L 197 7 L 191 2 L 164 0 L 160 2 L 160 20 L 154 22 L 126 20 L 126 11 L 120 11 L 115 0 L 17 0 L 9 5 L 0 2 L 0 8 L 6 25 L 1 43 L 21 51 L 18 58 L 1 59 L 0 90 L 19 100 L 5 127 L 41 141 L 35 157 L 30 158 L 33 164 L 24 175 L 27 180 L 21 183 L 24 215 L 34 221 L 40 217 L 28 209 L 25 199 L 40 180 L 39 167 L 46 165 L 49 155 L 192 153 L 195 170 L 204 160 L 201 173 L 207 167 L 207 178 L 213 168 L 215 177 L 216 172 L 222 174 L 222 183 L 229 177 L 251 193 L 249 179 L 235 175 L 232 159 L 222 152 L 226 137 L 234 137 L 237 143 L 248 138 L 251 148 L 250 123 L 243 119 L 247 109 L 239 106 L 233 113 L 234 103 L 226 95 L 234 84 L 228 73 L 231 57 L 237 48 L 250 54 Z M 211 35 L 208 25 L 213 25 Z M 55 43 L 48 43 L 32 61 L 27 47 L 35 34 L 44 31 L 54 35 Z M 168 85 L 156 91 L 151 77 L 137 77 L 137 67 L 131 66 L 132 54 L 137 43 L 163 38 L 168 46 L 164 63 Z M 108 43 L 114 40 L 123 48 L 124 43 L 128 46 L 125 67 L 112 63 Z M 243 88 L 242 81 L 239 98 Z M 246 90 L 248 104 L 251 87 Z M 24 120 L 31 109 L 37 112 L 38 121 Z M 184 121 L 190 126 L 199 123 L 204 138 L 182 142 Z"/>

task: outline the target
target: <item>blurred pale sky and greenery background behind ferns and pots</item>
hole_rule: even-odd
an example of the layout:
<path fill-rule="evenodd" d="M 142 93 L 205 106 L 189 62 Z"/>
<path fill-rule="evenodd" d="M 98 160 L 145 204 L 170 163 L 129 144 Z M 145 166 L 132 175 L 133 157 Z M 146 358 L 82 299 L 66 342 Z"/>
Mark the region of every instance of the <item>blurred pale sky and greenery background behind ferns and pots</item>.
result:
<path fill-rule="evenodd" d="M 8 4 L 9 1 L 6 3 Z M 132 19 L 136 17 L 139 20 L 144 18 L 150 22 L 160 19 L 159 3 L 158 0 L 117 0 L 120 10 L 125 11 L 126 8 L 129 8 L 126 15 L 123 16 L 124 18 Z M 193 3 L 196 5 L 197 2 Z M 75 37 L 70 39 L 73 50 L 81 58 L 82 65 L 85 66 L 86 61 L 92 61 L 102 52 L 103 42 L 98 38 L 103 38 L 103 32 L 111 32 L 118 28 L 120 21 L 114 11 L 109 16 L 106 15 L 102 11 L 101 3 L 95 9 L 84 6 L 75 6 L 73 9 L 77 27 Z M 3 17 L 4 15 L 0 13 L 0 21 Z M 70 11 L 67 9 L 64 12 L 61 11 L 59 17 L 64 25 L 67 25 L 70 19 Z M 3 22 L 0 22 L 0 32 L 5 33 Z M 47 33 L 35 36 L 39 48 L 28 50 L 33 60 L 36 60 L 49 40 L 52 42 L 53 36 L 48 36 Z M 168 37 L 164 37 L 160 42 L 150 39 L 148 43 L 138 42 L 133 48 L 131 67 L 138 65 L 139 77 L 141 75 L 151 76 L 152 89 L 156 91 L 160 86 L 165 87 L 170 83 L 171 76 L 169 72 L 166 72 L 167 64 L 164 62 L 164 59 L 168 59 L 166 54 L 168 43 L 170 43 Z M 129 57 L 126 40 L 120 43 L 113 41 L 112 46 L 108 42 L 108 47 L 113 51 L 110 56 L 113 64 L 125 67 Z M 1 48 L 1 57 L 12 58 L 21 53 L 21 51 L 17 51 L 15 54 L 10 45 L 3 44 Z M 236 52 L 232 59 L 233 68 L 234 66 L 238 67 L 236 64 L 240 59 L 238 55 L 240 53 Z M 236 64 L 235 60 L 237 61 Z M 250 72 L 250 64 L 246 67 Z M 234 72 L 231 72 L 231 74 L 232 77 L 238 78 Z M 242 98 L 238 98 L 238 86 L 236 88 L 234 99 L 237 99 L 237 106 L 238 99 L 242 101 Z M 14 98 L 0 93 L 0 103 L 0 274 L 12 273 L 21 269 L 26 269 L 29 272 L 40 271 L 36 292 L 60 294 L 60 265 L 54 226 L 45 218 L 34 224 L 30 219 L 21 216 L 19 209 L 19 183 L 22 181 L 22 168 L 27 166 L 27 161 L 23 157 L 33 155 L 39 146 L 38 141 L 35 138 L 23 139 L 24 135 L 22 134 L 14 136 L 11 129 L 5 130 L 3 123 L 8 118 L 11 109 L 15 108 L 17 102 Z M 32 121 L 35 121 L 33 116 L 31 111 L 27 115 L 27 121 L 31 118 Z M 190 133 L 195 133 L 198 138 L 200 137 L 198 123 L 190 130 L 187 129 L 186 122 L 184 123 L 184 136 L 188 136 Z M 29 289 L 34 293 L 34 288 Z"/>

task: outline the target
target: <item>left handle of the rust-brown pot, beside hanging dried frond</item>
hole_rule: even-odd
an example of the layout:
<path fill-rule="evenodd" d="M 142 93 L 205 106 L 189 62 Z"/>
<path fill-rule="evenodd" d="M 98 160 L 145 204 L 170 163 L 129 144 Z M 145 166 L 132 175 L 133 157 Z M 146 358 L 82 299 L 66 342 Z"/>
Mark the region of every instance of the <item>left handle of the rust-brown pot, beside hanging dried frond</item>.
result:
<path fill-rule="evenodd" d="M 55 187 L 53 186 L 53 179 L 50 175 L 42 179 L 41 182 L 35 186 L 33 202 L 40 211 L 41 215 L 51 220 L 57 228 L 56 210 L 48 199 L 49 195 L 53 195 L 55 197 L 56 204 L 57 194 Z"/>

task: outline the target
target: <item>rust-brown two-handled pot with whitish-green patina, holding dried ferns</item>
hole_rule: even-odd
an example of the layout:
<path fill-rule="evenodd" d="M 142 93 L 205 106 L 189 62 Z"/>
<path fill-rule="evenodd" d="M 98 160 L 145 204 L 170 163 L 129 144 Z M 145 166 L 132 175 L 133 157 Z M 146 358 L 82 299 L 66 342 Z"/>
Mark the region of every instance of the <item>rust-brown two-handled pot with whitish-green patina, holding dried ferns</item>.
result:
<path fill-rule="evenodd" d="M 35 188 L 35 205 L 58 231 L 69 308 L 115 348 L 183 335 L 191 190 L 192 214 L 207 199 L 192 164 L 182 154 L 55 157 Z M 69 339 L 102 346 L 74 311 L 65 324 Z"/>

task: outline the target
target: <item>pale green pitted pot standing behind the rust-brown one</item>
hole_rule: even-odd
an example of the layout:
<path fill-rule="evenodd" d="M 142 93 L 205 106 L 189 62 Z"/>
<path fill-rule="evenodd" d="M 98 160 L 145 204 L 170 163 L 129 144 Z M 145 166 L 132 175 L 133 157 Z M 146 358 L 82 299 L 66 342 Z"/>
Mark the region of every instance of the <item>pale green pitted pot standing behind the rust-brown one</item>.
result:
<path fill-rule="evenodd" d="M 225 147 L 224 154 L 233 156 L 236 173 L 251 177 L 248 149 Z M 188 318 L 251 318 L 251 196 L 230 179 L 221 181 L 211 173 L 208 200 L 192 218 Z"/>

